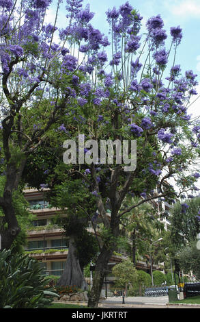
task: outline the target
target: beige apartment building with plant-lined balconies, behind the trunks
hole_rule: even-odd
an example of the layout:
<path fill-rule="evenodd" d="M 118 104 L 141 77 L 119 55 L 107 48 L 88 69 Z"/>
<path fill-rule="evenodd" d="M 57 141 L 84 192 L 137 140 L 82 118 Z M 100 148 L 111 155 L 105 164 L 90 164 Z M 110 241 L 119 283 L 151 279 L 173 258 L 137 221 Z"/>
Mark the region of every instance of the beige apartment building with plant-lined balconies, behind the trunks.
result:
<path fill-rule="evenodd" d="M 29 202 L 29 211 L 35 216 L 31 225 L 27 228 L 27 246 L 25 251 L 31 257 L 41 261 L 46 275 L 61 275 L 68 256 L 68 238 L 57 222 L 66 216 L 58 208 L 53 208 L 44 201 L 44 190 L 26 188 L 25 199 Z M 108 213 L 109 215 L 109 213 Z M 56 220 L 55 220 L 56 219 Z M 87 230 L 93 232 L 89 223 Z M 109 262 L 109 269 L 113 265 L 126 259 L 127 253 L 115 253 Z"/>

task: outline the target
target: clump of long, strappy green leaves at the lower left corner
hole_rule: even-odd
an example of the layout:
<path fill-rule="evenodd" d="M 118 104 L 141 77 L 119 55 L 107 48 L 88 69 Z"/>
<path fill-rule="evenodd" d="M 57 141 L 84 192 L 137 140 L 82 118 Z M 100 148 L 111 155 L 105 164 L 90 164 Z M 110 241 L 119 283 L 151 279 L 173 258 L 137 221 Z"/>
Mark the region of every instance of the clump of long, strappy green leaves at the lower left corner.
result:
<path fill-rule="evenodd" d="M 10 250 L 0 252 L 0 308 L 46 308 L 54 297 L 40 262 Z"/>

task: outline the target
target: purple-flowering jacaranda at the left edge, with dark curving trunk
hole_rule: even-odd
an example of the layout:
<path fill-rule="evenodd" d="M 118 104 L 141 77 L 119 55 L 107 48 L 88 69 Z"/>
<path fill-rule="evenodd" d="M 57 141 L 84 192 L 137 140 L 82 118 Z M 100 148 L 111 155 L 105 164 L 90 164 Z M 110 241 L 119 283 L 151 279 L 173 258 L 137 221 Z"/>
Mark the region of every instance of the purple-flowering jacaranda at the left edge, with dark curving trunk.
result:
<path fill-rule="evenodd" d="M 61 1 L 57 2 L 54 25 L 45 23 L 50 0 L 0 2 L 3 249 L 9 249 L 20 232 L 12 196 L 21 183 L 27 158 L 45 145 L 53 124 L 61 127 L 59 119 L 77 90 L 78 59 L 70 54 L 70 29 L 79 23 L 87 32 L 88 19 L 76 15 L 81 1 L 73 2 L 67 1 L 68 27 L 60 31 L 56 23 Z M 59 44 L 54 41 L 56 32 Z"/>

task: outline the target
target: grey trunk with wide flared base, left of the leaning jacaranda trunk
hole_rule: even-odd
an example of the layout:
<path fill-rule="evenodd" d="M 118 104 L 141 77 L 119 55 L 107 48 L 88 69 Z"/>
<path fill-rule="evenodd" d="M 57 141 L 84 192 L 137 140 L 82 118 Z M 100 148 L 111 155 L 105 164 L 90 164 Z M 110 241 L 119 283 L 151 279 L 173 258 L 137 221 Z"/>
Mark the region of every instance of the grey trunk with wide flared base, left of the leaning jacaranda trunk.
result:
<path fill-rule="evenodd" d="M 76 254 L 74 235 L 70 236 L 66 267 L 57 282 L 57 286 L 76 286 L 82 290 L 87 290 L 87 283 Z"/>

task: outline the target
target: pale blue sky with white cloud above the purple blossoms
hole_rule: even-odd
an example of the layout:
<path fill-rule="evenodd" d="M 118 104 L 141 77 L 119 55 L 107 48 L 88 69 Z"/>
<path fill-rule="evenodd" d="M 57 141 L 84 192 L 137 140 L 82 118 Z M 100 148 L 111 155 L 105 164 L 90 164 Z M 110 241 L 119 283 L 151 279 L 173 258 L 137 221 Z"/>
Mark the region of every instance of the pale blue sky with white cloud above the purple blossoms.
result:
<path fill-rule="evenodd" d="M 53 0 L 48 12 L 48 22 L 52 22 L 55 15 L 56 2 Z M 190 103 L 195 102 L 189 106 L 188 114 L 192 114 L 192 119 L 199 116 L 200 121 L 200 0 L 130 0 L 128 2 L 143 16 L 144 27 L 150 17 L 160 14 L 169 38 L 171 37 L 171 27 L 180 26 L 182 28 L 183 38 L 177 50 L 175 64 L 180 64 L 183 75 L 188 70 L 197 74 L 199 85 L 196 90 L 198 95 L 192 97 Z M 90 5 L 91 12 L 95 13 L 91 24 L 108 35 L 109 24 L 106 22 L 105 12 L 114 6 L 119 8 L 124 3 L 126 0 L 83 0 L 83 7 L 87 4 Z M 65 5 L 66 1 L 63 0 L 58 21 L 58 26 L 62 27 L 66 27 Z M 198 168 L 199 164 L 197 164 Z M 197 186 L 200 187 L 200 182 Z"/>

